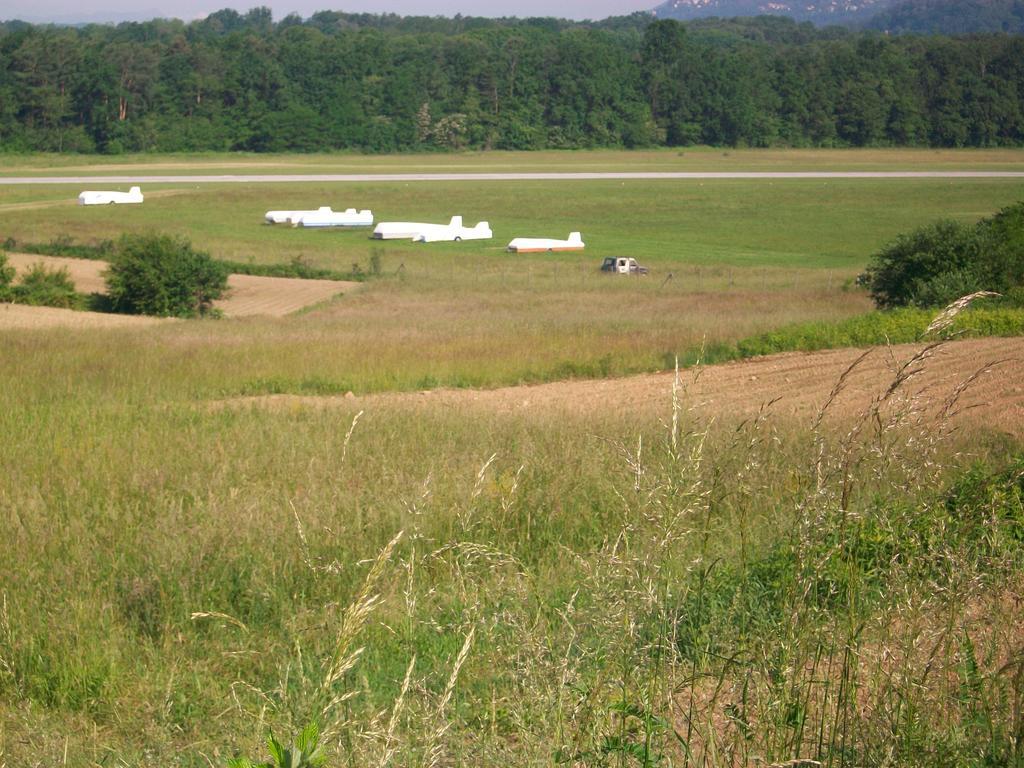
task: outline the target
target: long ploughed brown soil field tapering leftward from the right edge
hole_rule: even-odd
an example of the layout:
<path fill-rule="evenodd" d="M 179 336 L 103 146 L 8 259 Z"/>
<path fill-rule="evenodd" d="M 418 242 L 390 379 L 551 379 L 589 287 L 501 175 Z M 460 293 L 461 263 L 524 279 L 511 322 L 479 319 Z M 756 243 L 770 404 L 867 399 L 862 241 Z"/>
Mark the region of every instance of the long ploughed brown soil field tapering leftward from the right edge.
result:
<path fill-rule="evenodd" d="M 751 418 L 766 406 L 777 416 L 811 421 L 842 379 L 826 417 L 849 421 L 863 416 L 884 397 L 899 368 L 925 349 L 921 344 L 877 347 L 859 362 L 864 350 L 787 352 L 691 369 L 680 375 L 680 401 L 688 412 L 730 422 Z M 912 373 L 885 399 L 884 419 L 908 410 L 926 418 L 942 418 L 958 387 L 969 382 L 948 409 L 950 423 L 1024 435 L 1024 338 L 947 342 L 926 351 L 906 372 Z M 267 395 L 231 402 L 271 408 L 435 406 L 488 413 L 568 413 L 585 418 L 603 414 L 669 418 L 673 378 L 672 373 L 663 373 L 493 390 L 438 389 L 358 397 Z"/>

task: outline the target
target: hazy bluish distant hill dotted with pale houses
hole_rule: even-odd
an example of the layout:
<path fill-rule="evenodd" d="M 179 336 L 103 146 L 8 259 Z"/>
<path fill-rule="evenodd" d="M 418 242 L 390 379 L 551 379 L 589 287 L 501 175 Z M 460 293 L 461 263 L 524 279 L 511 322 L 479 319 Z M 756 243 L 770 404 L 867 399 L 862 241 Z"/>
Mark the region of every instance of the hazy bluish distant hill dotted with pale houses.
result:
<path fill-rule="evenodd" d="M 863 24 L 893 0 L 667 0 L 653 9 L 657 18 L 687 22 L 708 16 L 782 15 L 816 25 Z"/>

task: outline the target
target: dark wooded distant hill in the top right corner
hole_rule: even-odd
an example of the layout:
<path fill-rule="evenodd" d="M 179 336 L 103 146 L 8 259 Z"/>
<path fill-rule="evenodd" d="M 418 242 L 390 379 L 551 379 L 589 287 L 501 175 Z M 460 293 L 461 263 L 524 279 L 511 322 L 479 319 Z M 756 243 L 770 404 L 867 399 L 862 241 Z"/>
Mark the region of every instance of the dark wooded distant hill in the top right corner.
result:
<path fill-rule="evenodd" d="M 1020 35 L 1024 34 L 1024 0 L 904 0 L 880 11 L 867 28 L 919 35 Z"/>

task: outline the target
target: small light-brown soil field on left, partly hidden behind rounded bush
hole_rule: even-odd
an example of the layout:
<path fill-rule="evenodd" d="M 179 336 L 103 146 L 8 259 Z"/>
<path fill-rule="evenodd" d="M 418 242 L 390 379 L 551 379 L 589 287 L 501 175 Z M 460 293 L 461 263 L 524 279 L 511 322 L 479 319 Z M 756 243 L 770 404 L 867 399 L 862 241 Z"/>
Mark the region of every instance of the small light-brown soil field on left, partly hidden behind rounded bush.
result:
<path fill-rule="evenodd" d="M 106 268 L 105 261 L 36 256 L 28 253 L 11 253 L 7 255 L 7 259 L 18 273 L 39 262 L 51 269 L 63 267 L 71 273 L 80 293 L 103 293 L 106 290 L 102 276 Z M 358 283 L 345 281 L 232 274 L 227 279 L 229 289 L 227 298 L 216 302 L 214 306 L 227 317 L 253 315 L 283 317 L 340 293 L 351 292 L 358 286 Z"/>

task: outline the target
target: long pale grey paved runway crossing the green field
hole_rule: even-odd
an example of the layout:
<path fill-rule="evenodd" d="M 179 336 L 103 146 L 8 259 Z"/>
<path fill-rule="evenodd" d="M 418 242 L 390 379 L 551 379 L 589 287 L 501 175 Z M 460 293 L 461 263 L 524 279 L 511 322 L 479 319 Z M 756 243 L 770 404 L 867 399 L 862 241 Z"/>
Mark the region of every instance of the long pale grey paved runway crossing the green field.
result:
<path fill-rule="evenodd" d="M 0 176 L 4 184 L 263 184 L 328 181 L 669 181 L 720 179 L 1019 178 L 1021 171 L 625 171 L 621 173 L 273 173 L 241 175 Z"/>

